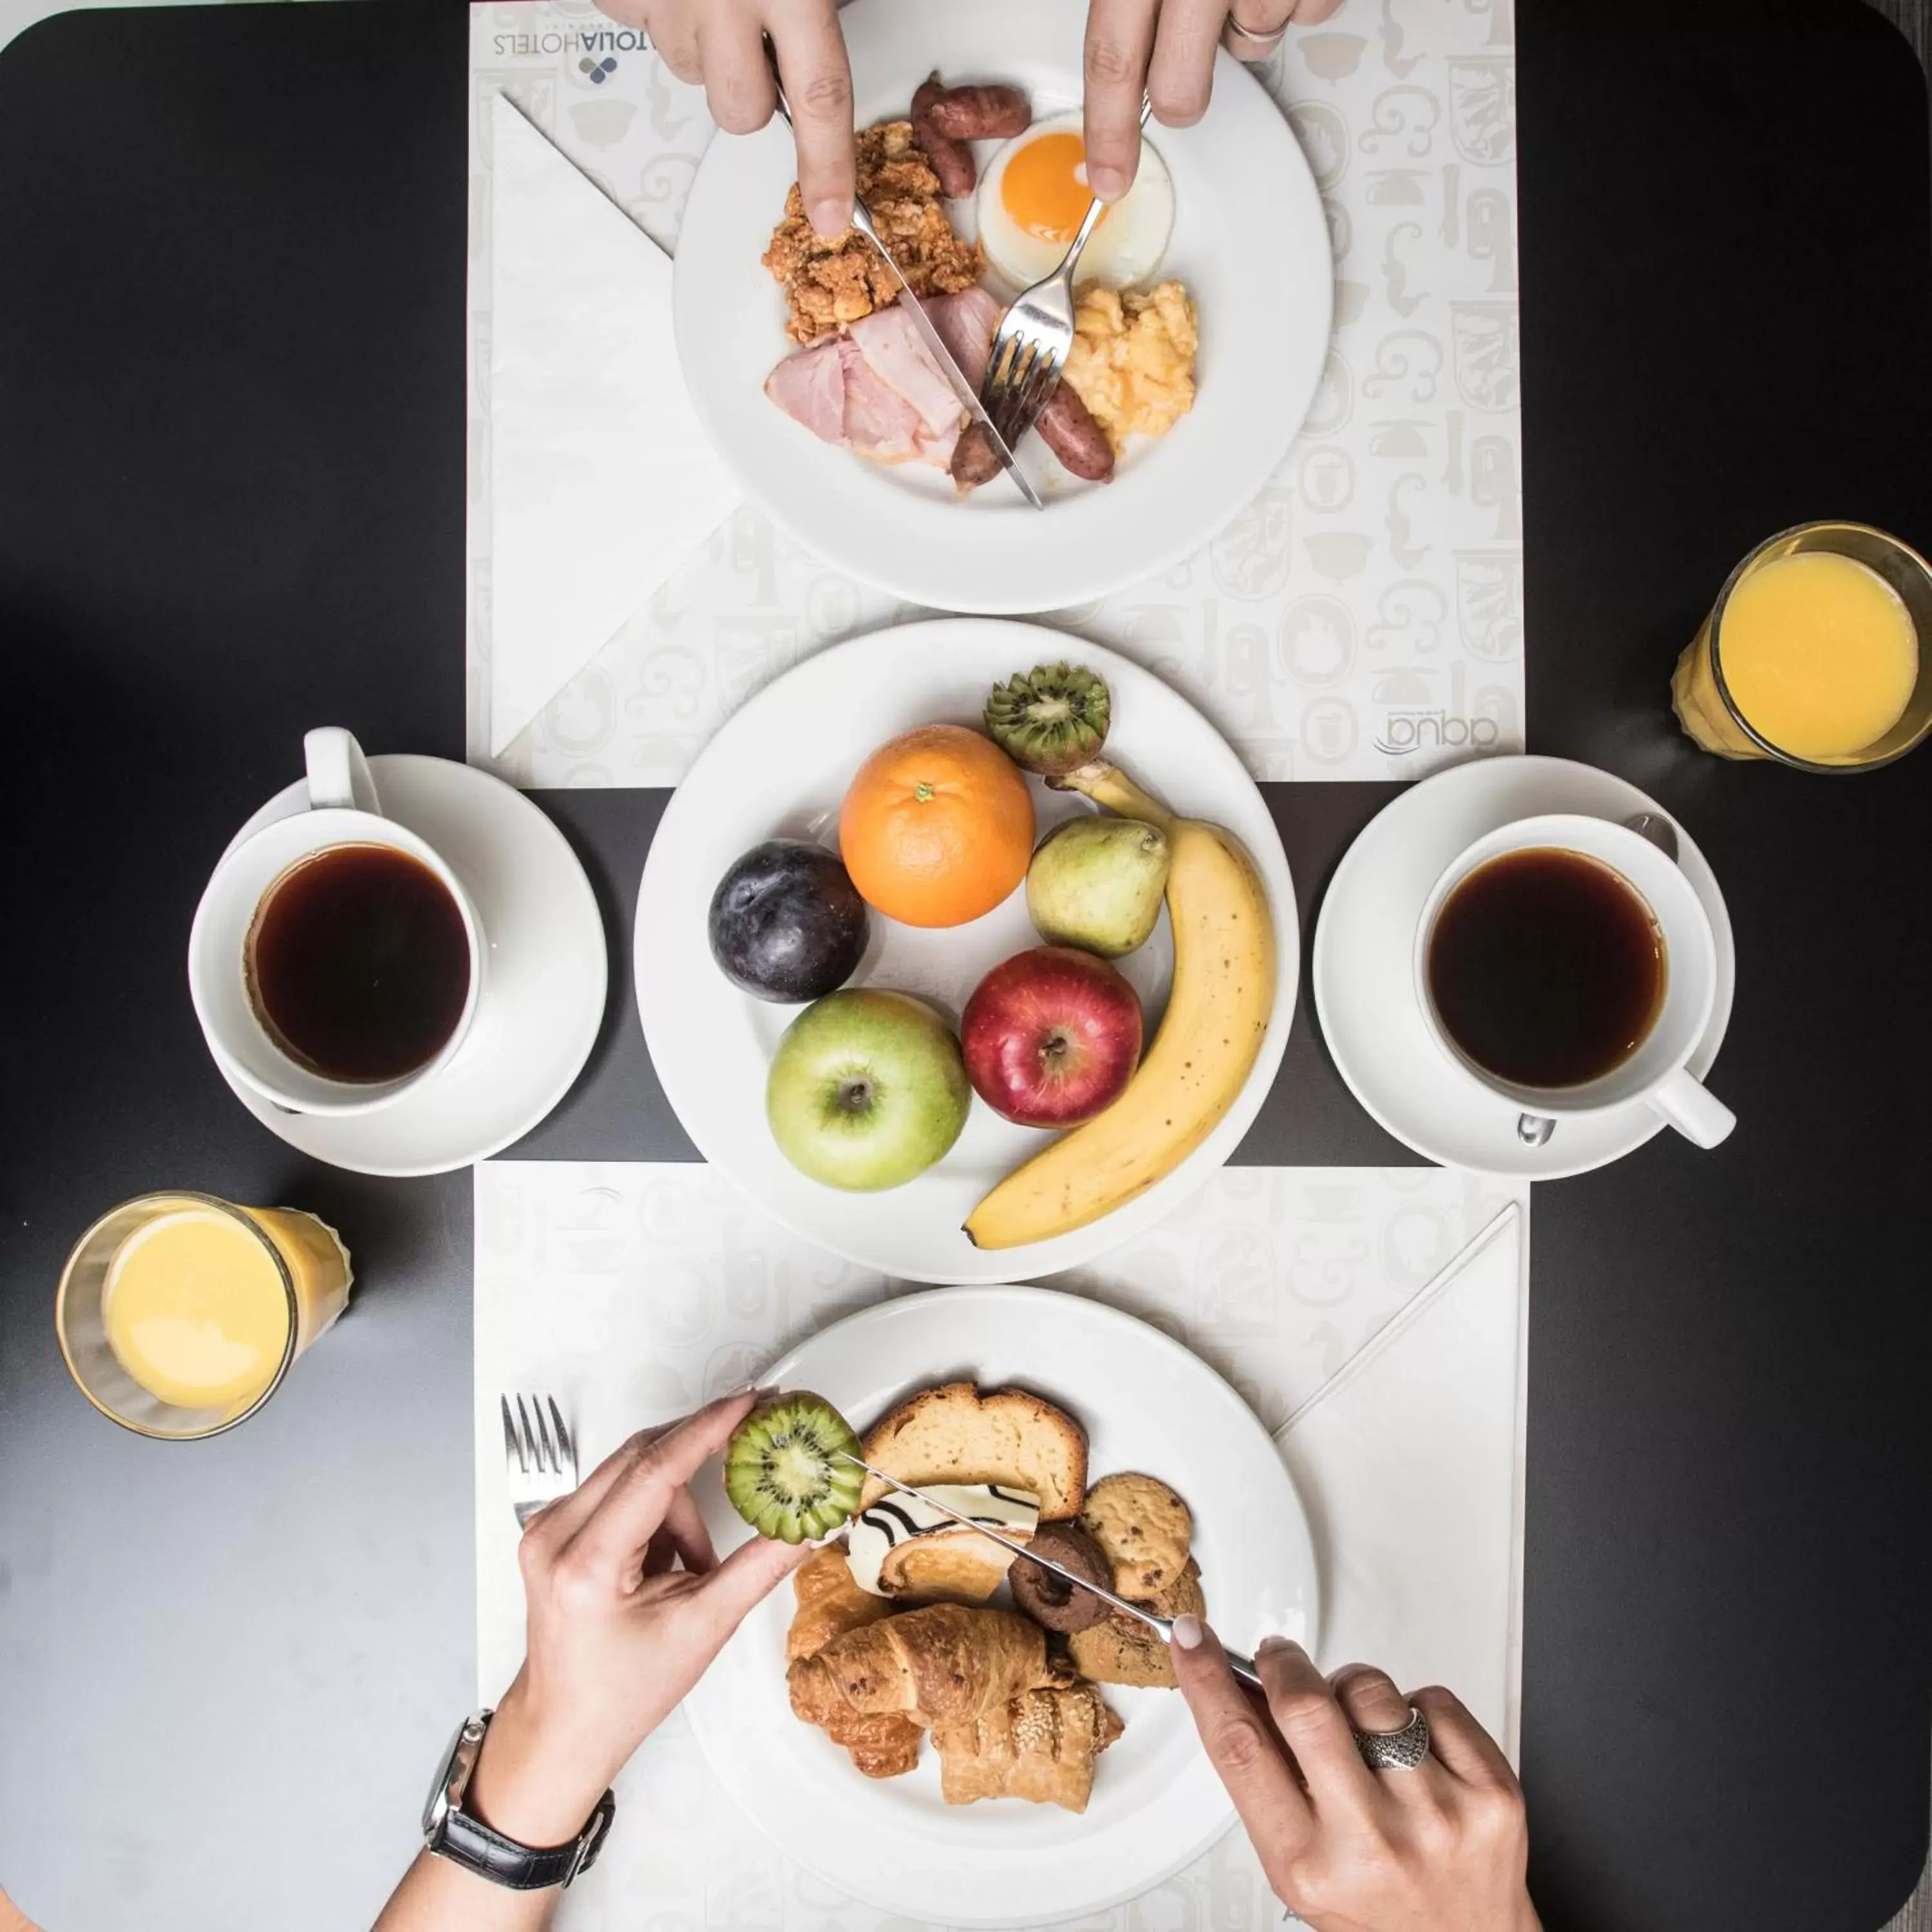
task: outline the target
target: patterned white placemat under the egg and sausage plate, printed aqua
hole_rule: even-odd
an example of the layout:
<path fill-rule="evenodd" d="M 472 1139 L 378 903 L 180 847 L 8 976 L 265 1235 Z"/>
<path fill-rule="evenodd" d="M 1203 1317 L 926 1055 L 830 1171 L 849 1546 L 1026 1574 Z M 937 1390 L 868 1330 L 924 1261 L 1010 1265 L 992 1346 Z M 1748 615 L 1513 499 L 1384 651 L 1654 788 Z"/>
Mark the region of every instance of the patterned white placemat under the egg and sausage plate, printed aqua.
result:
<path fill-rule="evenodd" d="M 487 759 L 489 97 L 508 91 L 676 247 L 703 95 L 589 0 L 471 8 L 469 750 Z M 1213 545 L 1041 612 L 1138 657 L 1258 779 L 1414 779 L 1522 748 L 1515 25 L 1509 0 L 1350 0 L 1262 77 L 1329 211 L 1337 327 L 1300 442 Z M 497 769 L 674 784 L 753 690 L 925 616 L 742 508 L 570 678 Z"/>

